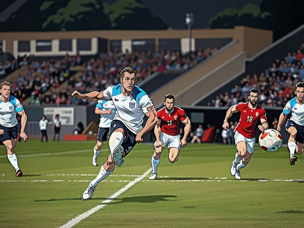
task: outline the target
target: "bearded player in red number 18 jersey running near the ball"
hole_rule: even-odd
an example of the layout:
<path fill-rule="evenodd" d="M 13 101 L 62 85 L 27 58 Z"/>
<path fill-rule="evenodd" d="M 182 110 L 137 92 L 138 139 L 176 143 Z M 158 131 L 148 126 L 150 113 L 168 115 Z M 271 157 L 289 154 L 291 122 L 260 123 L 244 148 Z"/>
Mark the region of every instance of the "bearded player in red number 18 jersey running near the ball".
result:
<path fill-rule="evenodd" d="M 256 89 L 249 91 L 249 102 L 240 102 L 237 105 L 231 106 L 227 113 L 223 123 L 223 129 L 229 128 L 228 119 L 233 113 L 241 112 L 240 121 L 234 130 L 235 146 L 237 147 L 237 153 L 235 159 L 232 162 L 230 173 L 236 179 L 240 180 L 240 168 L 244 168 L 250 161 L 250 157 L 254 152 L 255 143 L 255 127 L 260 120 L 261 125 L 258 126 L 260 131 L 264 131 L 268 128 L 268 120 L 266 118 L 265 109 L 257 104 L 259 92 Z"/>

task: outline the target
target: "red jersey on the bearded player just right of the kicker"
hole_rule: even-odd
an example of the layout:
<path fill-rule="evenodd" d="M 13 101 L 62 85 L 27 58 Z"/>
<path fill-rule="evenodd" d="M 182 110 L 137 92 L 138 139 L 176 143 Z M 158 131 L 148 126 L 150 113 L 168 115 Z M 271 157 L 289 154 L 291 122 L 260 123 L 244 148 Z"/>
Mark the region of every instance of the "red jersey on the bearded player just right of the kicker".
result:
<path fill-rule="evenodd" d="M 166 108 L 157 112 L 157 118 L 161 120 L 161 131 L 168 135 L 179 135 L 179 123 L 186 119 L 186 113 L 183 109 L 174 106 L 172 113 L 168 113 Z"/>

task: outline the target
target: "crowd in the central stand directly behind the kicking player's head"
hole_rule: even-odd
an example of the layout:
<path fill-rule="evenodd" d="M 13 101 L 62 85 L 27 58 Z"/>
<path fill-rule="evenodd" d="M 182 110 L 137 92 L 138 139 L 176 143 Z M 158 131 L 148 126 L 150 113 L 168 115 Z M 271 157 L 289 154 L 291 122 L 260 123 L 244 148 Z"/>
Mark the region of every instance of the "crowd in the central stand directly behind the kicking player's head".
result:
<path fill-rule="evenodd" d="M 216 51 L 217 49 L 210 50 L 207 48 L 204 51 L 182 56 L 178 51 L 129 53 L 126 50 L 125 53 L 122 53 L 116 50 L 97 59 L 92 58 L 84 62 L 81 76 L 71 76 L 68 79 L 67 88 L 59 92 L 54 89 L 53 94 L 50 96 L 43 96 L 37 92 L 38 95 L 31 97 L 31 104 L 89 105 L 92 102 L 73 98 L 70 94 L 74 90 L 88 93 L 95 90 L 102 91 L 109 85 L 117 85 L 120 83 L 120 71 L 127 66 L 137 71 L 136 83 L 138 83 L 156 72 L 179 73 L 186 71 Z"/>

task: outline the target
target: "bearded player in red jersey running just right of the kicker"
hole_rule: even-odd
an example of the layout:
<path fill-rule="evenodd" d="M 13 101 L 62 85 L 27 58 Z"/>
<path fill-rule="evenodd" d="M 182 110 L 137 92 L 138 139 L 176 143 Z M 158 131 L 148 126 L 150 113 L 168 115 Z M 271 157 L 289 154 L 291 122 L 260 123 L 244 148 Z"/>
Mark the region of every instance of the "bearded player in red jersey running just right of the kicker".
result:
<path fill-rule="evenodd" d="M 155 125 L 154 133 L 156 142 L 154 143 L 155 152 L 152 156 L 152 174 L 150 180 L 157 177 L 157 166 L 160 163 L 161 152 L 166 145 L 169 149 L 169 161 L 174 163 L 178 160 L 178 154 L 181 147 L 187 145 L 187 136 L 191 130 L 190 119 L 186 116 L 183 109 L 174 106 L 174 96 L 168 94 L 164 99 L 165 107 L 157 112 L 157 125 Z M 179 132 L 179 124 L 185 124 L 185 134 L 181 139 Z"/>

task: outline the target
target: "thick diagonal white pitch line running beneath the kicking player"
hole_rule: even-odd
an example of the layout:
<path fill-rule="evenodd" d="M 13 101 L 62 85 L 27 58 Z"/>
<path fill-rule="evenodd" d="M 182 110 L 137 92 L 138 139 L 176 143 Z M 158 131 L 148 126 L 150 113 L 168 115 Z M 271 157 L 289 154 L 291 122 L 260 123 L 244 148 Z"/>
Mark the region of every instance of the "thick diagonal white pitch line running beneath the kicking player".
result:
<path fill-rule="evenodd" d="M 151 171 L 152 171 L 152 168 L 149 168 L 146 172 L 143 173 L 143 175 L 141 177 L 137 177 L 133 181 L 129 182 L 126 186 L 124 186 L 123 188 L 119 189 L 117 192 L 115 192 L 113 195 L 111 195 L 108 199 L 102 201 L 101 204 L 97 205 L 96 207 L 93 207 L 91 210 L 88 210 L 87 212 L 82 213 L 81 215 L 78 215 L 74 219 L 71 219 L 69 222 L 67 222 L 63 226 L 60 226 L 60 228 L 71 228 L 72 226 L 75 226 L 77 223 L 79 223 L 82 219 L 87 218 L 88 216 L 94 214 L 96 211 L 98 211 L 98 210 L 102 209 L 103 207 L 107 206 L 113 199 L 115 199 L 120 194 L 126 192 L 126 190 L 128 190 L 129 188 L 131 188 L 138 181 L 141 181 Z"/>

